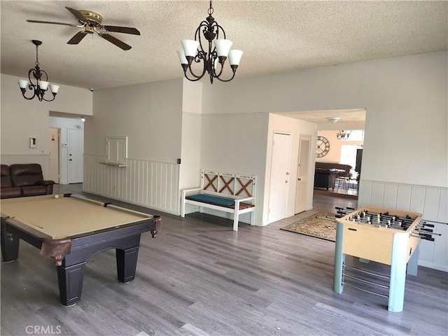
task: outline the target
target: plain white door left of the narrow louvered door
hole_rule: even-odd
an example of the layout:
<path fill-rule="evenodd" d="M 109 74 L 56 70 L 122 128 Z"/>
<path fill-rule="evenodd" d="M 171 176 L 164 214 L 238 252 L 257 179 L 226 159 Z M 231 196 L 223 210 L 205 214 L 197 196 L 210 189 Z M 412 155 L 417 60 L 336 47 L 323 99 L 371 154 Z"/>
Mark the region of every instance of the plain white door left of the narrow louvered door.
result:
<path fill-rule="evenodd" d="M 274 133 L 269 185 L 269 214 L 267 216 L 269 223 L 286 218 L 290 148 L 290 134 Z"/>

